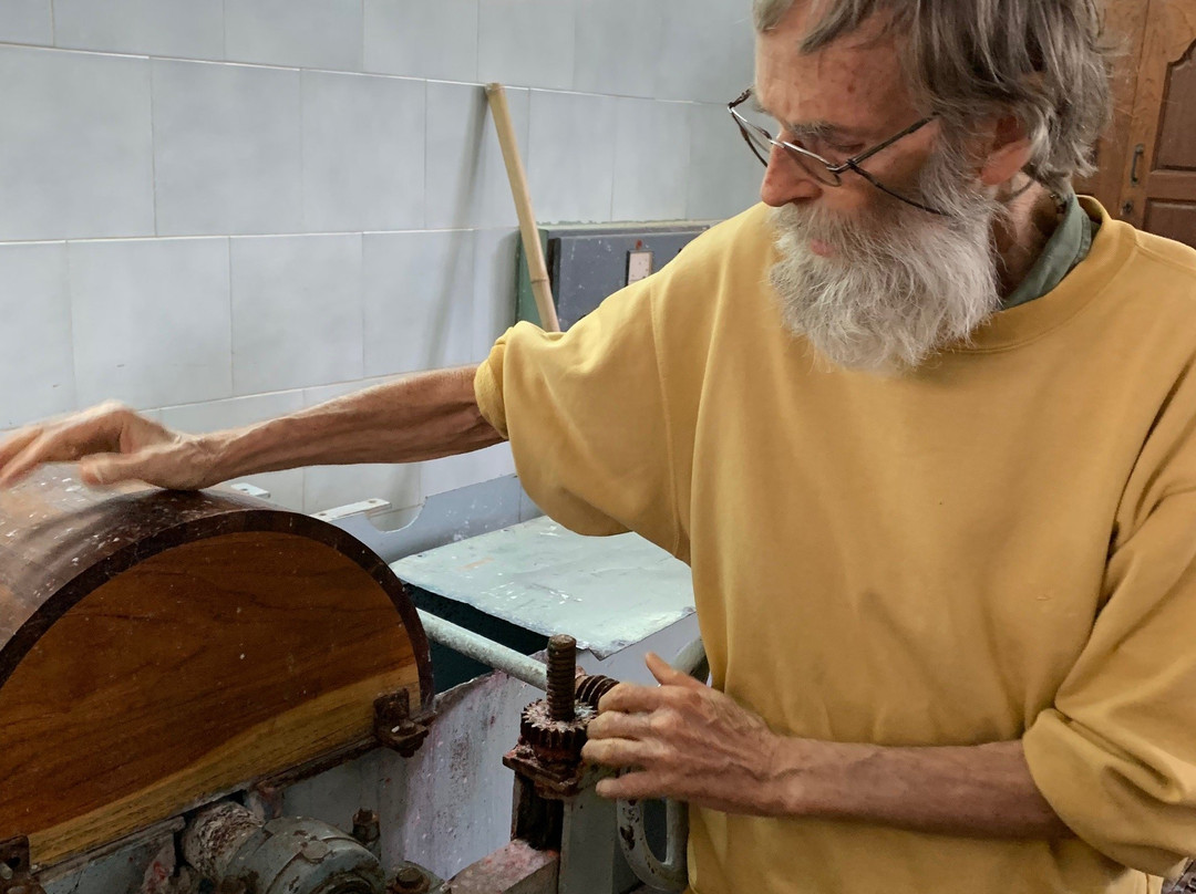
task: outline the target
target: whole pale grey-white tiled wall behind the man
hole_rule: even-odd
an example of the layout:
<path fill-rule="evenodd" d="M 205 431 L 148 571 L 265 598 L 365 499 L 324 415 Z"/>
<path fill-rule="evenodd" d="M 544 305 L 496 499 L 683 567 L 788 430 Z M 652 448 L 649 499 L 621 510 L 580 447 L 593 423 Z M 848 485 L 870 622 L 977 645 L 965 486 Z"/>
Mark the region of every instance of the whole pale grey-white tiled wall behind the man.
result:
<path fill-rule="evenodd" d="M 118 397 L 209 430 L 484 357 L 518 243 L 489 79 L 542 222 L 756 201 L 724 108 L 748 0 L 53 6 L 0 0 L 0 429 Z M 251 480 L 402 508 L 511 470 L 500 446 Z"/>

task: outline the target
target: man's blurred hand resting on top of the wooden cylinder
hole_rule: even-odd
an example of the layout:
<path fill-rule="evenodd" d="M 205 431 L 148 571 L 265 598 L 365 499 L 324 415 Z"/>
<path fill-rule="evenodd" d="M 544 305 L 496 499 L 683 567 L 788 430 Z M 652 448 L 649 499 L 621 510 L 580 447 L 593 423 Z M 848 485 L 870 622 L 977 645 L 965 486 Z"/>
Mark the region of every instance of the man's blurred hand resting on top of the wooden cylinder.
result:
<path fill-rule="evenodd" d="M 213 477 L 212 451 L 202 439 L 177 434 L 116 403 L 100 404 L 55 422 L 28 425 L 0 442 L 0 488 L 47 463 L 79 461 L 85 484 L 142 480 L 159 488 L 197 490 Z"/>

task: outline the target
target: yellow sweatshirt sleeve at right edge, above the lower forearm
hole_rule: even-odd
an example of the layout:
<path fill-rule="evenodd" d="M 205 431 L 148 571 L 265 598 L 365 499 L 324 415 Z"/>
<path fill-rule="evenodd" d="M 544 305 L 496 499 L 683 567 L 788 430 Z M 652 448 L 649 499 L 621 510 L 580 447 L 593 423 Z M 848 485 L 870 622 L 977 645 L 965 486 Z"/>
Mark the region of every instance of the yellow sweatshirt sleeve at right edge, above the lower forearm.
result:
<path fill-rule="evenodd" d="M 1081 839 L 1165 877 L 1196 856 L 1196 402 L 1177 403 L 1123 495 L 1088 643 L 1024 737 Z"/>

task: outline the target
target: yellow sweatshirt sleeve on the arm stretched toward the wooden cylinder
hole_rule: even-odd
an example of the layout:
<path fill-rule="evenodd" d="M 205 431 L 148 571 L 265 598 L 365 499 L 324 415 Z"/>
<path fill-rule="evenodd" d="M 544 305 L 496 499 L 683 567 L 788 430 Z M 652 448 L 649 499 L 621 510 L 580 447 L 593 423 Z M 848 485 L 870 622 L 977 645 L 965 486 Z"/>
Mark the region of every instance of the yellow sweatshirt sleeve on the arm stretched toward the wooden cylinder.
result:
<path fill-rule="evenodd" d="M 634 531 L 677 555 L 657 278 L 616 293 L 568 332 L 518 324 L 478 367 L 475 392 L 547 515 L 582 534 Z"/>

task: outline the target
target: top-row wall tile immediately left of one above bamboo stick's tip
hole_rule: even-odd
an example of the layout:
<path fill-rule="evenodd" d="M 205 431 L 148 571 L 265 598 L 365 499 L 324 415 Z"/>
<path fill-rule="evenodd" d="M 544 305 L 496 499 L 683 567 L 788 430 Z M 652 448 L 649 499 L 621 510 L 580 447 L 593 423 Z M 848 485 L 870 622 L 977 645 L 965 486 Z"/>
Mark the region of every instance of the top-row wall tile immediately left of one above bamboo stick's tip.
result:
<path fill-rule="evenodd" d="M 368 72 L 477 80 L 478 0 L 365 0 Z"/>

